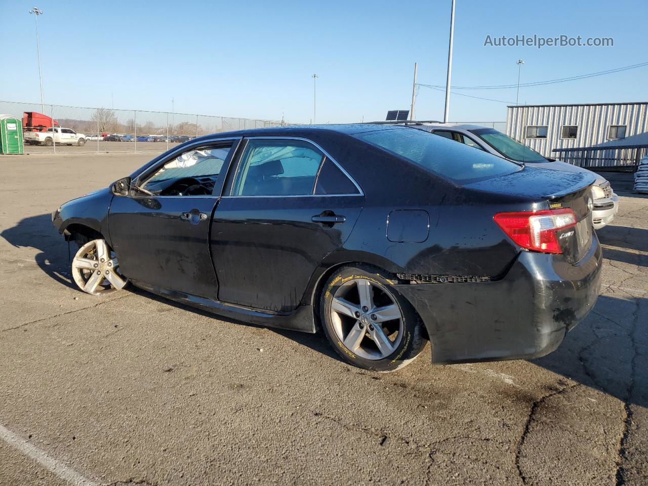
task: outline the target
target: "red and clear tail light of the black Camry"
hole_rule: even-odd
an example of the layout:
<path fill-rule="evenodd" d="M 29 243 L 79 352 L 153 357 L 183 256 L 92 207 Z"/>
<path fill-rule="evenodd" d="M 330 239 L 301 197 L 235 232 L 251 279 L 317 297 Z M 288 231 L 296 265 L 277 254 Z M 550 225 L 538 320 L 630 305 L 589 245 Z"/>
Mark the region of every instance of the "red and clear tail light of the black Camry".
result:
<path fill-rule="evenodd" d="M 516 244 L 542 253 L 562 253 L 557 231 L 576 226 L 571 209 L 498 213 L 493 219 Z"/>

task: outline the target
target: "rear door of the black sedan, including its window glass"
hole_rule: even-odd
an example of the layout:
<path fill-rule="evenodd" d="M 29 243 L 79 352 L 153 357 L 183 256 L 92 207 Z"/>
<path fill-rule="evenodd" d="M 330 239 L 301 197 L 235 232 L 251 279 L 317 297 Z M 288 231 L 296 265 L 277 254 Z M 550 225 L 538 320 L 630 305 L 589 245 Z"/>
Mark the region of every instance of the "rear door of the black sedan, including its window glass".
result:
<path fill-rule="evenodd" d="M 246 139 L 212 224 L 218 300 L 294 310 L 321 260 L 349 237 L 363 203 L 357 183 L 311 141 Z"/>

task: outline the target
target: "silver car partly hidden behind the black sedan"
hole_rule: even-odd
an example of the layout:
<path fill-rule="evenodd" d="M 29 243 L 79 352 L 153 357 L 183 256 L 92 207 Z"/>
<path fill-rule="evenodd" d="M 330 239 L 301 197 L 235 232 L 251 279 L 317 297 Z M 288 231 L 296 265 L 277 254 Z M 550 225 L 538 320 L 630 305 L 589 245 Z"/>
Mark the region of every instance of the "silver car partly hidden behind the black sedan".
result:
<path fill-rule="evenodd" d="M 403 123 L 406 124 L 408 122 Z M 538 154 L 533 148 L 512 139 L 498 130 L 494 130 L 494 128 L 486 128 L 472 124 L 441 122 L 415 122 L 413 126 L 414 128 L 419 128 L 419 130 L 426 130 L 426 132 L 441 135 L 456 142 L 465 143 L 466 145 L 485 150 L 485 152 L 504 157 L 511 161 L 533 164 L 534 167 L 555 168 L 567 172 L 594 174 L 596 177 L 596 182 L 592 187 L 592 197 L 594 198 L 594 217 L 592 218 L 592 224 L 594 229 L 601 229 L 609 224 L 614 219 L 614 215 L 619 211 L 619 196 L 612 191 L 612 186 L 603 176 L 599 176 L 586 168 L 577 167 L 556 159 L 547 159 Z"/>

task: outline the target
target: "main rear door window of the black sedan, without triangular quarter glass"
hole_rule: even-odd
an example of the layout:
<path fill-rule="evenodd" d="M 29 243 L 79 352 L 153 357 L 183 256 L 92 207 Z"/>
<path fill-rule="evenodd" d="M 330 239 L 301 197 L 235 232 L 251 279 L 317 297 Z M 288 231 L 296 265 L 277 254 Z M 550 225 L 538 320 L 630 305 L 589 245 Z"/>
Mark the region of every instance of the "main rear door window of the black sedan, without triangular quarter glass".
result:
<path fill-rule="evenodd" d="M 323 154 L 299 140 L 251 139 L 240 158 L 233 196 L 302 196 L 313 193 Z"/>

